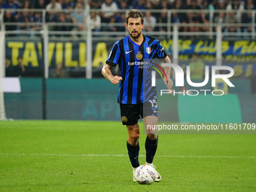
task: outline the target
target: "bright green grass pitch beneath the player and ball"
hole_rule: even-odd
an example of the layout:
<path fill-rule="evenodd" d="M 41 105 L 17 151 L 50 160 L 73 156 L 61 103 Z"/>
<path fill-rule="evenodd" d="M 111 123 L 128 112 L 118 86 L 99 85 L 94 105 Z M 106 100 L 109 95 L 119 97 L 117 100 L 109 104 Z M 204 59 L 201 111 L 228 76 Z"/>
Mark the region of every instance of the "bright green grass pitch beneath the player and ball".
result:
<path fill-rule="evenodd" d="M 0 191 L 256 190 L 256 135 L 160 135 L 151 185 L 133 183 L 126 139 L 120 122 L 0 121 Z"/>

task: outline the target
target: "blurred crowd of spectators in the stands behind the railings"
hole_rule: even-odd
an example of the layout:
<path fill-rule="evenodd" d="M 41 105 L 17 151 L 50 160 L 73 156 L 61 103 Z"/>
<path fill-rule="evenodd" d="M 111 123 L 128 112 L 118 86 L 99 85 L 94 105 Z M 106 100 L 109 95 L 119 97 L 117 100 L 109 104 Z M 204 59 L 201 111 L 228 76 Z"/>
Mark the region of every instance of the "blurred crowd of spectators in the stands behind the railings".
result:
<path fill-rule="evenodd" d="M 86 14 L 86 8 L 90 6 L 90 15 Z M 224 27 L 224 32 L 251 32 L 251 26 L 240 26 L 239 23 L 252 23 L 251 12 L 254 10 L 256 1 L 253 0 L 0 0 L 0 8 L 5 8 L 5 23 L 21 23 L 18 25 L 6 25 L 6 30 L 41 30 L 43 21 L 41 11 L 34 9 L 46 9 L 45 21 L 58 23 L 50 26 L 50 30 L 69 32 L 82 31 L 90 27 L 93 31 L 123 32 L 125 31 L 126 14 L 120 10 L 136 8 L 145 14 L 146 32 L 165 32 L 166 23 L 209 23 L 209 13 L 193 10 L 217 10 L 212 23 L 230 23 L 233 25 Z M 15 11 L 15 9 L 26 11 Z M 9 10 L 10 9 L 10 10 Z M 29 11 L 33 9 L 33 11 Z M 148 10 L 157 9 L 159 13 L 151 13 Z M 168 18 L 167 10 L 187 10 L 186 12 L 172 12 Z M 223 10 L 223 12 L 220 12 Z M 231 12 L 232 11 L 236 11 Z M 58 12 L 59 11 L 59 12 Z M 118 12 L 120 11 L 120 12 Z M 230 11 L 230 12 L 228 12 Z M 24 24 L 23 24 L 24 23 Z M 30 23 L 30 24 L 29 24 Z M 61 25 L 70 23 L 70 25 Z M 84 25 L 86 23 L 86 25 Z M 107 23 L 107 25 L 102 25 Z M 118 24 L 119 23 L 119 24 Z M 157 24 L 158 23 L 158 24 Z M 209 26 L 181 26 L 181 32 L 207 32 Z M 215 31 L 216 29 L 213 28 Z M 66 33 L 68 35 L 68 33 Z M 63 36 L 66 36 L 65 34 Z M 69 34 L 72 35 L 72 32 Z"/>

